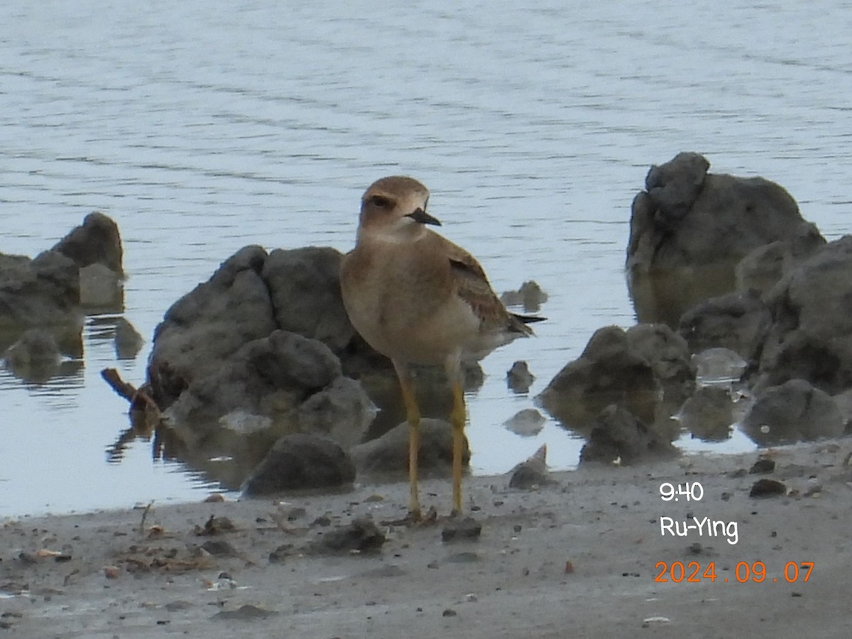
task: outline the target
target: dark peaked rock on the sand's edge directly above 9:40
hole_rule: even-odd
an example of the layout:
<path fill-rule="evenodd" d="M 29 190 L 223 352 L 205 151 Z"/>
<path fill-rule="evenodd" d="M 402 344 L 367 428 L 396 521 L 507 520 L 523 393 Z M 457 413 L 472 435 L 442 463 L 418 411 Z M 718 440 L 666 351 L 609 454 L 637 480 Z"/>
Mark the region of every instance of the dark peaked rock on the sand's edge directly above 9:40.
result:
<path fill-rule="evenodd" d="M 619 461 L 629 465 L 648 458 L 673 457 L 671 442 L 648 429 L 623 406 L 607 406 L 597 419 L 588 442 L 580 451 L 580 463 Z"/>

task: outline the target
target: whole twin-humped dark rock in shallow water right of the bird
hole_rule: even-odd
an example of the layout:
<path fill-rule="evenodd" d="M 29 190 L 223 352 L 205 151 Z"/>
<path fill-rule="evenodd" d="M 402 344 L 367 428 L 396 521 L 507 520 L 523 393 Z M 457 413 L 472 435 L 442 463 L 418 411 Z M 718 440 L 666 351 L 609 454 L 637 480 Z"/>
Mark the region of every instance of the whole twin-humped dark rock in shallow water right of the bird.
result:
<path fill-rule="evenodd" d="M 647 423 L 659 406 L 680 406 L 694 384 L 686 343 L 665 325 L 599 329 L 578 360 L 556 374 L 538 402 L 565 426 L 594 423 L 610 404 L 624 406 Z M 667 419 L 665 416 L 660 415 Z"/>

